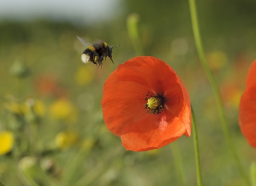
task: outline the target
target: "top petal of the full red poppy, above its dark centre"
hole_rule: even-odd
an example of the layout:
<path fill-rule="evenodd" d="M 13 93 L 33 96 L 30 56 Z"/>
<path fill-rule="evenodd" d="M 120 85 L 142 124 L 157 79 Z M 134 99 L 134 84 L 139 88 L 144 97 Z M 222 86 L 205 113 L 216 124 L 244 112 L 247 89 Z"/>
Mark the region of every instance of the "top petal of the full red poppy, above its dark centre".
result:
<path fill-rule="evenodd" d="M 118 79 L 134 81 L 150 88 L 152 93 L 162 94 L 178 81 L 176 73 L 165 62 L 149 56 L 134 57 L 118 65 Z"/>

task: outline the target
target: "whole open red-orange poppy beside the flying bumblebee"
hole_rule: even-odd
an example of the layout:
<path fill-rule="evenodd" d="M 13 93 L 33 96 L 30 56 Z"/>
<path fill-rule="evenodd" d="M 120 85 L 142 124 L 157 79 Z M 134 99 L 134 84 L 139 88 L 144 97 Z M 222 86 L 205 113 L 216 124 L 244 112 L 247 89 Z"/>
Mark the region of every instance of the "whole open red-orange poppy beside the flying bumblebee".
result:
<path fill-rule="evenodd" d="M 157 95 L 163 109 L 149 114 L 145 98 Z M 104 84 L 101 105 L 108 130 L 121 137 L 126 150 L 161 148 L 191 133 L 188 91 L 172 67 L 155 57 L 118 65 Z"/>

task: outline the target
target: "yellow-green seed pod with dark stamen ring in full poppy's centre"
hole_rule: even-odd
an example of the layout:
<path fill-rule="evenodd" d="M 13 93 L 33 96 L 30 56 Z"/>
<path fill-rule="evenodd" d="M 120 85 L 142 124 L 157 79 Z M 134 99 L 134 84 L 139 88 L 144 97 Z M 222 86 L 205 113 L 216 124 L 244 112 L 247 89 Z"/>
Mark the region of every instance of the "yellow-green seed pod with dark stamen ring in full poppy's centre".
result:
<path fill-rule="evenodd" d="M 153 96 L 150 92 L 146 95 L 145 100 L 148 102 L 145 104 L 145 109 L 147 109 L 146 113 L 149 114 L 159 114 L 163 111 L 164 109 L 164 102 L 165 102 L 165 97 L 164 93 L 161 94 L 156 94 L 156 96 Z"/>

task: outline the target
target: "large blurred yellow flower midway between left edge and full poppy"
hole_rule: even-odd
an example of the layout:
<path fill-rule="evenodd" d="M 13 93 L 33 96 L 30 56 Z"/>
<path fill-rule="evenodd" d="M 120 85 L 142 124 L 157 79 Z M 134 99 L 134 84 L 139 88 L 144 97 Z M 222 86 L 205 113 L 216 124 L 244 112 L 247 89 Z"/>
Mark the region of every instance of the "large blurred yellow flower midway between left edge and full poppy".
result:
<path fill-rule="evenodd" d="M 50 107 L 50 112 L 55 119 L 69 122 L 76 122 L 77 119 L 77 109 L 65 98 L 55 101 Z"/>

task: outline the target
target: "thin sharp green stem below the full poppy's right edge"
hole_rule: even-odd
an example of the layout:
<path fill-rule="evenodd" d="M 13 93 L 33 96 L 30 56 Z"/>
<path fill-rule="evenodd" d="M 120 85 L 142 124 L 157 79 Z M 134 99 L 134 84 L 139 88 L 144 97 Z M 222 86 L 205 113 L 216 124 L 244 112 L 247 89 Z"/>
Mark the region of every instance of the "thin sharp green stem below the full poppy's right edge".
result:
<path fill-rule="evenodd" d="M 193 140 L 194 140 L 195 158 L 196 158 L 197 186 L 202 186 L 201 164 L 200 164 L 200 157 L 199 157 L 199 144 L 198 144 L 198 138 L 197 138 L 195 115 L 194 115 L 192 108 L 191 108 L 191 112 L 192 112 Z"/>

